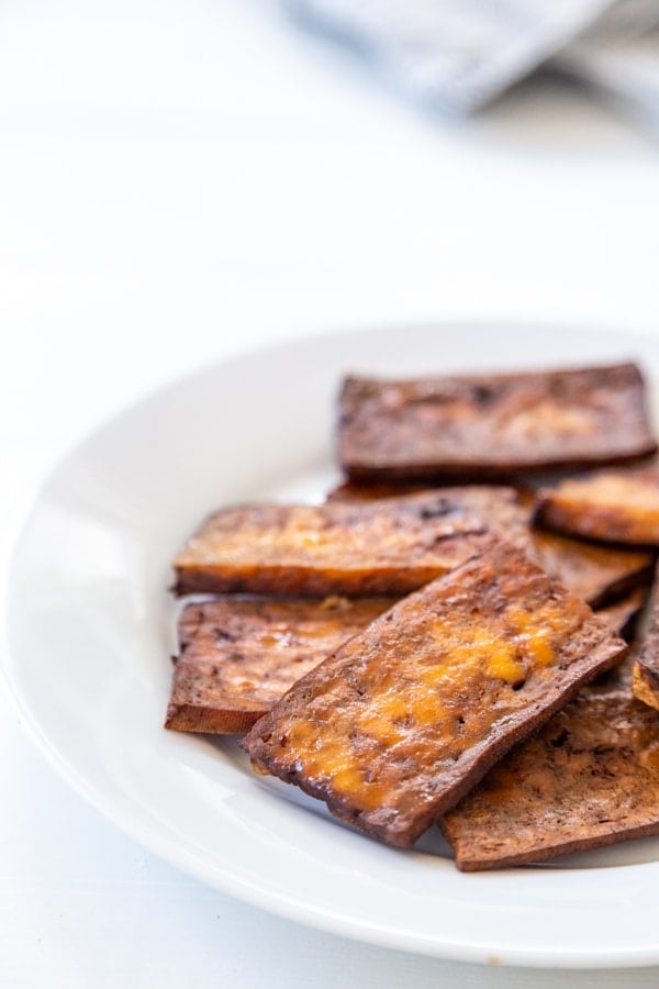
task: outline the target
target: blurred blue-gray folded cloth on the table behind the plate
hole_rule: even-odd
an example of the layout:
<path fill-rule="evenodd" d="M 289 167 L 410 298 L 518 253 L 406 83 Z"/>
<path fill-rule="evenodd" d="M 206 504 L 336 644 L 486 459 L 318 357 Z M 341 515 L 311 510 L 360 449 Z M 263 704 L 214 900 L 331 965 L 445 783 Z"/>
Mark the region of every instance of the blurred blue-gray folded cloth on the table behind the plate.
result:
<path fill-rule="evenodd" d="M 659 0 L 281 0 L 298 19 L 357 45 L 405 88 L 469 113 L 547 63 L 626 98 L 659 87 Z M 621 59 L 648 49 L 636 93 Z M 638 75 L 638 74 L 637 74 Z M 643 92 L 645 90 L 645 95 Z M 659 92 L 659 88 L 658 88 Z M 659 114 L 659 108 L 657 108 Z"/>

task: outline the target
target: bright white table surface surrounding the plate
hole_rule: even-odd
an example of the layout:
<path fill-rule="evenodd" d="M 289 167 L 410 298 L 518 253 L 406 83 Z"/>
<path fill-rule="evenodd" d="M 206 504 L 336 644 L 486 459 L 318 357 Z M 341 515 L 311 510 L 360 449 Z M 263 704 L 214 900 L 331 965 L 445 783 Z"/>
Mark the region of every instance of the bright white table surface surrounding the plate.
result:
<path fill-rule="evenodd" d="M 435 121 L 268 3 L 0 5 L 0 549 L 64 449 L 286 335 L 439 321 L 659 330 L 656 140 L 537 84 Z M 343 941 L 125 837 L 0 694 L 0 986 L 574 987 Z"/>

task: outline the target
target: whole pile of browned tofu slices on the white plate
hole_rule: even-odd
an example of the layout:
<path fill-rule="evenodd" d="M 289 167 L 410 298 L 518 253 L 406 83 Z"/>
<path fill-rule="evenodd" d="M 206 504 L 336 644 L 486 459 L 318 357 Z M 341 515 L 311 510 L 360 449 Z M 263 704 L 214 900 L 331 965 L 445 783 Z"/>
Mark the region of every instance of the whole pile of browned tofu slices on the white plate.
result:
<path fill-rule="evenodd" d="M 462 869 L 659 833 L 639 369 L 347 378 L 337 438 L 324 504 L 217 511 L 175 560 L 204 598 L 166 727 L 247 733 L 257 773 L 393 846 L 437 824 Z"/>

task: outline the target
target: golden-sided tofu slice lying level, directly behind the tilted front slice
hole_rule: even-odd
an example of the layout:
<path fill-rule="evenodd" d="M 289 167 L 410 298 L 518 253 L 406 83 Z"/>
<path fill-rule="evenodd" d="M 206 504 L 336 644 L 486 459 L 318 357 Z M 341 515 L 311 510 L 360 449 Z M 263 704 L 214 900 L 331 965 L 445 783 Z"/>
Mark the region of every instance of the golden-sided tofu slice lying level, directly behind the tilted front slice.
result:
<path fill-rule="evenodd" d="M 400 597 L 473 556 L 485 527 L 440 492 L 369 504 L 226 509 L 175 560 L 175 590 Z"/>

